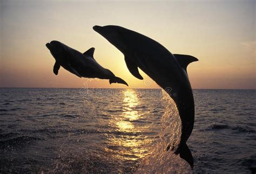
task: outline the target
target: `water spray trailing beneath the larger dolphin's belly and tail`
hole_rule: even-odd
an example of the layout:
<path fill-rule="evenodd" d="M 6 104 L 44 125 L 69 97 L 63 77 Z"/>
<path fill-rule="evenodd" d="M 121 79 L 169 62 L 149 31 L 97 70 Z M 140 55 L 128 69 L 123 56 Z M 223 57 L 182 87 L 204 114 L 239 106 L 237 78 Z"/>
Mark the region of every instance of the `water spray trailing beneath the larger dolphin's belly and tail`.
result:
<path fill-rule="evenodd" d="M 181 120 L 174 101 L 164 90 L 162 93 L 166 109 L 161 118 L 159 140 L 136 173 L 192 173 L 190 165 L 174 154 L 180 142 Z"/>

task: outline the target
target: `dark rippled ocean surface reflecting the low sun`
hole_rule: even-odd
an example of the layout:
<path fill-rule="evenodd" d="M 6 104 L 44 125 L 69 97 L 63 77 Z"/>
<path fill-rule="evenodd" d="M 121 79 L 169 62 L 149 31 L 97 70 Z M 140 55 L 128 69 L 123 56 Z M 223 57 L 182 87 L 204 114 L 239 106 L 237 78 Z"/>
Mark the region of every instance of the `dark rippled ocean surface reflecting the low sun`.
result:
<path fill-rule="evenodd" d="M 250 173 L 256 91 L 193 90 L 194 169 L 161 89 L 0 88 L 0 173 Z"/>

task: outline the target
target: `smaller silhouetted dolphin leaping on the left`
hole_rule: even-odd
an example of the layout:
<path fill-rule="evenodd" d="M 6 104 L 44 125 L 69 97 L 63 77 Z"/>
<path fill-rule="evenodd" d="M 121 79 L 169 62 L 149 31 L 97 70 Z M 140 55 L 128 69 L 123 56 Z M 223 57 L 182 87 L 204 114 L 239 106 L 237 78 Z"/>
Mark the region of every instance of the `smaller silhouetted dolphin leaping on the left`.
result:
<path fill-rule="evenodd" d="M 56 62 L 53 66 L 53 73 L 58 74 L 60 66 L 69 72 L 79 76 L 79 78 L 99 78 L 109 79 L 109 83 L 122 83 L 128 84 L 121 78 L 114 75 L 109 69 L 106 69 L 98 64 L 93 58 L 95 48 L 90 48 L 84 53 L 80 53 L 73 48 L 60 43 L 59 41 L 52 40 L 46 44 Z"/>

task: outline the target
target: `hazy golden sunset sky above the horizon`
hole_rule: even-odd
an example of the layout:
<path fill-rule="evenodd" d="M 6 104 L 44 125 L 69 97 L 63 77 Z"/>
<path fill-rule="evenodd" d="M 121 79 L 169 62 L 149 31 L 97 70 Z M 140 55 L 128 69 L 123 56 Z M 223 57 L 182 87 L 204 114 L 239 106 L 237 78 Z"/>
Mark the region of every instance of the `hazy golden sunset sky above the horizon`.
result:
<path fill-rule="evenodd" d="M 199 61 L 187 67 L 194 89 L 256 89 L 256 1 L 0 1 L 0 87 L 126 88 L 78 78 L 60 68 L 45 44 L 58 40 L 80 52 L 95 47 L 103 67 L 128 88 L 158 88 L 132 76 L 123 54 L 92 30 L 119 25 L 173 54 Z"/>

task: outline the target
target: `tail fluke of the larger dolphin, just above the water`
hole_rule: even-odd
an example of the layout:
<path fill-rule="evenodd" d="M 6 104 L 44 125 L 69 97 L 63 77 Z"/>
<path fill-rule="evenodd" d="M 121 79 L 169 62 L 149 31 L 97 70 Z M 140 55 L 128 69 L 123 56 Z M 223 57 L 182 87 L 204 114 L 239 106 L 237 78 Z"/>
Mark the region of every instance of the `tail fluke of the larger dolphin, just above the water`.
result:
<path fill-rule="evenodd" d="M 188 164 L 190 164 L 191 168 L 193 169 L 194 167 L 193 156 L 191 154 L 190 149 L 188 149 L 186 143 L 180 144 L 175 154 L 179 154 L 180 158 L 183 158 Z"/>

